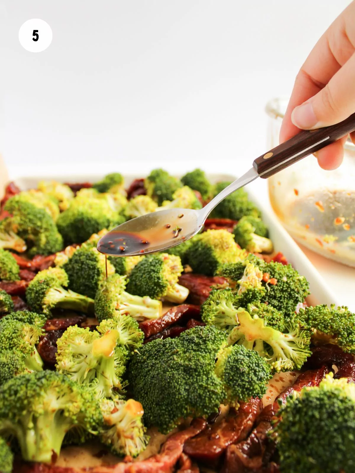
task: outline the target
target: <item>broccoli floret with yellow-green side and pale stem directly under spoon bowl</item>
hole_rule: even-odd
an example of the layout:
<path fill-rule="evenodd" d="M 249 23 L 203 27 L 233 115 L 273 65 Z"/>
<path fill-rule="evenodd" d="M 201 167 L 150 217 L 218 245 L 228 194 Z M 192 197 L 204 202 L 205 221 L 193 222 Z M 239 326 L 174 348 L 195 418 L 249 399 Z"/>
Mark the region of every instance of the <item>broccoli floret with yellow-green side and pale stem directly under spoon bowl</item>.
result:
<path fill-rule="evenodd" d="M 148 255 L 134 266 L 127 283 L 127 292 L 181 304 L 189 293 L 188 289 L 177 284 L 182 272 L 178 256 L 167 253 Z"/>

